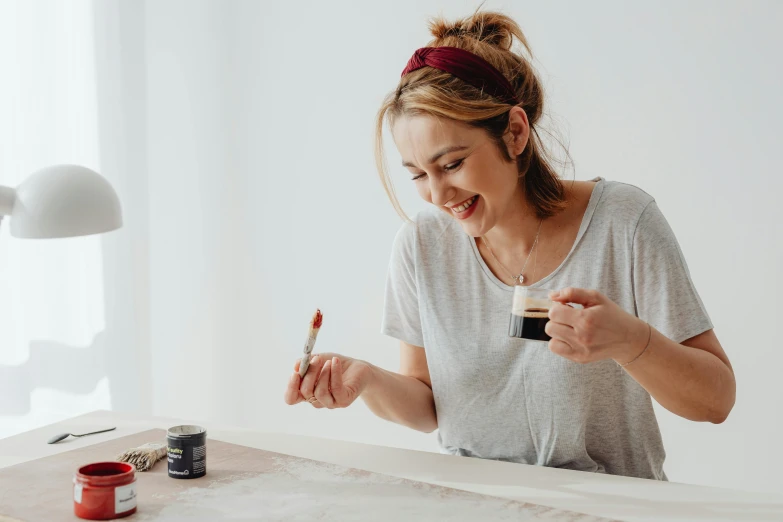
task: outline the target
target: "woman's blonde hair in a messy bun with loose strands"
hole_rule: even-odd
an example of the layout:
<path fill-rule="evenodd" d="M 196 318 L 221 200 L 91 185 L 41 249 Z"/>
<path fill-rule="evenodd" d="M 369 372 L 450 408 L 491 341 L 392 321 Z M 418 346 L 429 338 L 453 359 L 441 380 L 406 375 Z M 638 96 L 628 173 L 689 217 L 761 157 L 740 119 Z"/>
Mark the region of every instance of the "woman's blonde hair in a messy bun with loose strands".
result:
<path fill-rule="evenodd" d="M 538 124 L 544 110 L 544 92 L 531 63 L 512 51 L 519 41 L 532 59 L 532 52 L 519 25 L 497 12 L 475 12 L 473 15 L 446 22 L 442 18 L 430 21 L 434 37 L 426 47 L 459 47 L 492 64 L 514 88 L 519 106 L 527 114 L 530 137 L 525 150 L 517 157 L 520 183 L 525 196 L 540 218 L 551 217 L 565 208 L 565 187 L 553 167 L 554 158 L 539 136 Z M 375 163 L 386 194 L 397 213 L 408 219 L 397 200 L 389 177 L 383 147 L 383 125 L 390 126 L 401 116 L 429 115 L 451 119 L 487 131 L 508 161 L 503 136 L 508 130 L 511 105 L 482 92 L 472 85 L 441 70 L 424 67 L 400 79 L 378 111 L 375 130 Z M 550 134 L 551 135 L 551 134 Z M 562 143 L 561 143 L 561 146 Z M 570 156 L 565 146 L 566 157 Z"/>

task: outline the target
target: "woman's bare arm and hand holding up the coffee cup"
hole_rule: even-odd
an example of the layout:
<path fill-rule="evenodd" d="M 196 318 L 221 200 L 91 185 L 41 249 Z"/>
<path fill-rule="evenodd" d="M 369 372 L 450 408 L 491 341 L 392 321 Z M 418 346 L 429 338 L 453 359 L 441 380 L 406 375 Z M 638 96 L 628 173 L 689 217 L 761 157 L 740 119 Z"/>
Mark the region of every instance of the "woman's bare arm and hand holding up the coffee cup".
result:
<path fill-rule="evenodd" d="M 736 382 L 713 330 L 678 344 L 598 291 L 566 288 L 553 292 L 552 300 L 546 327 L 552 352 L 579 363 L 627 364 L 624 370 L 672 413 L 715 424 L 726 420 Z"/>

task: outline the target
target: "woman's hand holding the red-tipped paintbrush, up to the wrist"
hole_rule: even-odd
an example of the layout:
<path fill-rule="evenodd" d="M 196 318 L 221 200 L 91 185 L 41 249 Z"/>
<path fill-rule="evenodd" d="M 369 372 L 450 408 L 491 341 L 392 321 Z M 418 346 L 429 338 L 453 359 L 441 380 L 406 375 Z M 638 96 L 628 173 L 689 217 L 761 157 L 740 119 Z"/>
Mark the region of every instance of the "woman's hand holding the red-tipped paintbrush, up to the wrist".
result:
<path fill-rule="evenodd" d="M 299 377 L 299 359 L 285 391 L 287 404 L 309 402 L 314 408 L 347 408 L 367 387 L 370 365 L 336 353 L 313 355 L 304 378 Z"/>

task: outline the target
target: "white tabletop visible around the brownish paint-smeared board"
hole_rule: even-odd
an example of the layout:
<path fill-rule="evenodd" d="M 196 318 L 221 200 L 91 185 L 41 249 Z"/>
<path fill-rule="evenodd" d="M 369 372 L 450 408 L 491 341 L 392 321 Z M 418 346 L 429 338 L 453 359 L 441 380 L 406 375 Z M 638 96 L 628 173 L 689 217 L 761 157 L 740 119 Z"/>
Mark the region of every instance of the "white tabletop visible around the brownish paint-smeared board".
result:
<path fill-rule="evenodd" d="M 0 440 L 0 468 L 141 431 L 198 423 L 97 411 Z M 442 486 L 629 521 L 783 521 L 783 498 L 670 482 L 454 457 L 355 442 L 202 424 L 210 439 Z M 46 441 L 58 433 L 115 431 Z M 783 497 L 783 496 L 781 496 Z"/>

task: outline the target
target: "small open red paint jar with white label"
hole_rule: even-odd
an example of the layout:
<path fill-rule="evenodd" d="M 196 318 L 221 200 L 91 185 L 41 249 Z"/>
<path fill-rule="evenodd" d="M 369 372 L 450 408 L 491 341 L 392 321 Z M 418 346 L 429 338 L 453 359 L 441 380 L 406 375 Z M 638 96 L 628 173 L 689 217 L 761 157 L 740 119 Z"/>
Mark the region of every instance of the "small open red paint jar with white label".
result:
<path fill-rule="evenodd" d="M 73 512 L 87 520 L 109 520 L 136 512 L 136 468 L 125 462 L 96 462 L 73 476 Z"/>

